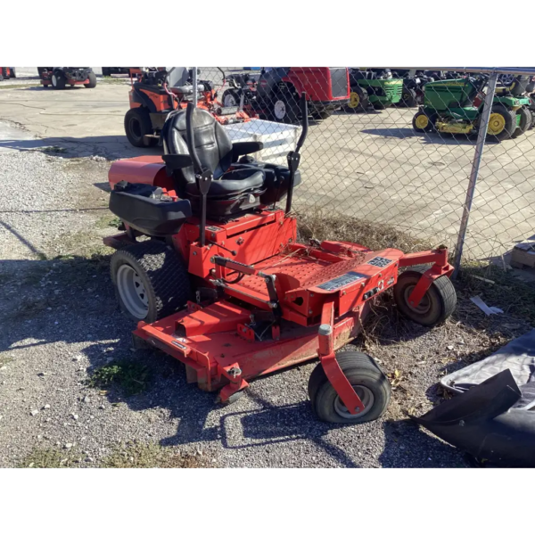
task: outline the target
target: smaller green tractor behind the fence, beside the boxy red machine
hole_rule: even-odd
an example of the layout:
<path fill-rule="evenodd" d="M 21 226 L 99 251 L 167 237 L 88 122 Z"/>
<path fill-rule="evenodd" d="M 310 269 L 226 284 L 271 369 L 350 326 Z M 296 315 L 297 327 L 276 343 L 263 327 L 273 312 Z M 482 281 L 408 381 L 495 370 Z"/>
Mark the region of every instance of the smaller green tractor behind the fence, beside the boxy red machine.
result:
<path fill-rule="evenodd" d="M 350 69 L 351 98 L 346 111 L 363 112 L 370 106 L 385 110 L 401 102 L 403 80 L 392 79 L 389 74 Z"/>

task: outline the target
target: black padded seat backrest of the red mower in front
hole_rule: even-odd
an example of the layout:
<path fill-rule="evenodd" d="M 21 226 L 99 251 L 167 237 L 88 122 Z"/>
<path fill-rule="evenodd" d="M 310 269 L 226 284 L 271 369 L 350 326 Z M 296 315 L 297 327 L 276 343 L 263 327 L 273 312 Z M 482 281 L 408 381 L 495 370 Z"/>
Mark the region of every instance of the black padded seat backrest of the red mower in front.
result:
<path fill-rule="evenodd" d="M 185 117 L 185 110 L 169 114 L 163 131 L 165 150 L 168 154 L 189 155 Z M 202 166 L 210 169 L 214 178 L 218 180 L 230 169 L 233 161 L 233 144 L 225 128 L 208 111 L 197 108 L 193 112 L 193 136 Z M 191 167 L 180 169 L 175 173 L 182 185 L 195 181 Z"/>

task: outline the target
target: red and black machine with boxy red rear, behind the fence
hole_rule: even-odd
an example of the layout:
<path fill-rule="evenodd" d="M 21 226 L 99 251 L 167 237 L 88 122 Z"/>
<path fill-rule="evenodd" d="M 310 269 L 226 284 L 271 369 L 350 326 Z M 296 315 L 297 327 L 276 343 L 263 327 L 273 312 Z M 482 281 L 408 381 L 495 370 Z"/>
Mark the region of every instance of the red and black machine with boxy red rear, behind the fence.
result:
<path fill-rule="evenodd" d="M 264 66 L 258 75 L 234 74 L 227 81 L 224 105 L 240 104 L 243 91 L 244 110 L 280 123 L 300 124 L 302 93 L 314 119 L 328 119 L 350 102 L 347 67 Z"/>

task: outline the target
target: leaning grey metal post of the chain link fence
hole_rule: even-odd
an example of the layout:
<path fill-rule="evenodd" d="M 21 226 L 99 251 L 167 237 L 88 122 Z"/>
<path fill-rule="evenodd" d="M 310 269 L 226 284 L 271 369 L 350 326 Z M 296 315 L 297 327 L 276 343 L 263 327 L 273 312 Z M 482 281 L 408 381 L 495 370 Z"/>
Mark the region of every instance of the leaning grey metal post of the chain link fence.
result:
<path fill-rule="evenodd" d="M 454 279 L 457 279 L 461 261 L 463 259 L 463 252 L 465 251 L 466 231 L 468 230 L 468 223 L 470 222 L 470 212 L 472 211 L 473 197 L 475 195 L 475 187 L 479 178 L 481 169 L 481 159 L 483 151 L 485 150 L 485 142 L 487 140 L 487 131 L 489 130 L 490 111 L 492 110 L 492 103 L 494 102 L 494 95 L 496 94 L 496 87 L 498 86 L 498 72 L 493 72 L 489 78 L 489 90 L 485 98 L 485 106 L 481 116 L 481 125 L 479 136 L 477 137 L 477 145 L 473 155 L 472 173 L 470 174 L 470 183 L 468 184 L 468 191 L 466 192 L 465 210 L 461 220 L 461 228 L 459 230 L 457 248 L 455 251 L 455 274 Z"/>

